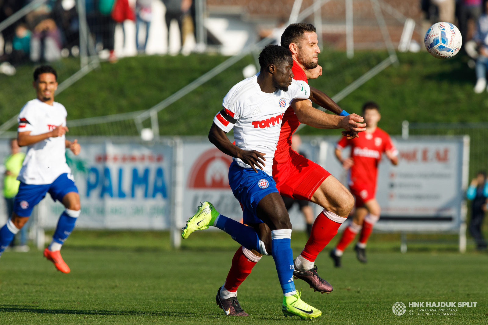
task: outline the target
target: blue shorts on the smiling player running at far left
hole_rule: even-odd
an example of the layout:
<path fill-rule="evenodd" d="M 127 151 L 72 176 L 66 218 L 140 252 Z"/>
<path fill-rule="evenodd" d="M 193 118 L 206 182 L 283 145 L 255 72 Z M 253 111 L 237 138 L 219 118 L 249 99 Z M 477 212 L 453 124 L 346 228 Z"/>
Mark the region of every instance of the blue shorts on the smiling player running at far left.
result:
<path fill-rule="evenodd" d="M 62 202 L 64 196 L 69 192 L 78 193 L 78 188 L 72 180 L 73 176 L 70 174 L 61 174 L 51 184 L 25 184 L 20 182 L 19 192 L 15 196 L 14 212 L 19 217 L 30 217 L 34 206 L 41 202 L 49 192 L 52 199 L 56 202 Z"/>

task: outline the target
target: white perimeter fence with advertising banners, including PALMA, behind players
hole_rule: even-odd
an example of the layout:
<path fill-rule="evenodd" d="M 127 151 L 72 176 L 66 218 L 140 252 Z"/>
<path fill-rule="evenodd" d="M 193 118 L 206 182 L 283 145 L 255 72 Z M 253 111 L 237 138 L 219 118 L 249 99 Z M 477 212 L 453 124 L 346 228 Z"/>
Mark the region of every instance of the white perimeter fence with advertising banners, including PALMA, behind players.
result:
<path fill-rule="evenodd" d="M 302 137 L 306 156 L 347 186 L 347 172 L 334 156 L 338 137 Z M 383 232 L 459 233 L 466 249 L 468 136 L 394 137 L 399 164 L 380 164 L 377 199 L 382 216 L 375 230 Z M 206 138 L 171 137 L 156 142 L 138 138 L 79 138 L 79 156 L 67 151 L 80 191 L 78 228 L 170 230 L 180 245 L 180 229 L 200 201 L 210 201 L 225 216 L 241 220 L 242 210 L 228 185 L 231 157 Z M 347 152 L 345 152 L 348 155 Z M 8 140 L 0 140 L 0 158 L 9 155 Z M 315 215 L 322 208 L 314 205 Z M 37 242 L 43 229 L 55 228 L 64 207 L 49 194 L 34 211 Z M 0 218 L 6 221 L 0 200 Z M 293 229 L 305 229 L 295 206 Z M 2 223 L 2 224 L 3 224 Z M 343 227 L 346 226 L 346 223 Z"/>

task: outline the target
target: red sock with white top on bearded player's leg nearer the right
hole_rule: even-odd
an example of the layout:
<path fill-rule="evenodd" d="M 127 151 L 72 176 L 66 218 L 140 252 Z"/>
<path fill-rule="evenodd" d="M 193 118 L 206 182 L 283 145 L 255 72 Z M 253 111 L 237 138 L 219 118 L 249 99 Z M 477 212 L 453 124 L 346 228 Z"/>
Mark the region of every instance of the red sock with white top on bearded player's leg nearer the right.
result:
<path fill-rule="evenodd" d="M 315 219 L 310 238 L 306 242 L 301 255 L 310 262 L 315 261 L 317 255 L 334 238 L 337 234 L 337 229 L 345 221 L 346 218 L 324 209 Z"/>

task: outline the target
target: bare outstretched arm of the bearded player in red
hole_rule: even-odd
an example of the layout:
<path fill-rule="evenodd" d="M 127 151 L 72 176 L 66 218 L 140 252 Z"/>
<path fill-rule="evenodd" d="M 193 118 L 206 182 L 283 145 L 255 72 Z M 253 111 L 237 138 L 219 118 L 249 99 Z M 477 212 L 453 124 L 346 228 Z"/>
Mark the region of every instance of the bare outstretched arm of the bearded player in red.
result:
<path fill-rule="evenodd" d="M 357 115 L 351 114 L 347 116 L 337 116 L 327 114 L 321 110 L 313 108 L 307 100 L 295 99 L 291 102 L 291 107 L 297 115 L 300 123 L 320 128 L 320 129 L 345 129 L 346 132 L 362 132 L 366 130 L 364 119 Z M 351 136 L 352 138 L 353 136 Z"/>

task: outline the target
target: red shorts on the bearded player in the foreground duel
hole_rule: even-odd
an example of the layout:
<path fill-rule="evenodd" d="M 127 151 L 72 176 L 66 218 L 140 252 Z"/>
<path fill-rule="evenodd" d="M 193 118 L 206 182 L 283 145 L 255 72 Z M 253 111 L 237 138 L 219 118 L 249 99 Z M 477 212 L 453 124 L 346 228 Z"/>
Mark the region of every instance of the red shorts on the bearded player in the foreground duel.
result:
<path fill-rule="evenodd" d="M 320 184 L 330 175 L 320 165 L 292 151 L 286 163 L 273 164 L 273 179 L 281 195 L 310 201 Z"/>

